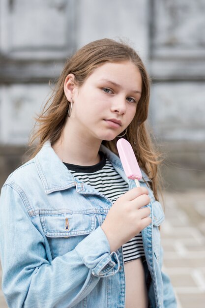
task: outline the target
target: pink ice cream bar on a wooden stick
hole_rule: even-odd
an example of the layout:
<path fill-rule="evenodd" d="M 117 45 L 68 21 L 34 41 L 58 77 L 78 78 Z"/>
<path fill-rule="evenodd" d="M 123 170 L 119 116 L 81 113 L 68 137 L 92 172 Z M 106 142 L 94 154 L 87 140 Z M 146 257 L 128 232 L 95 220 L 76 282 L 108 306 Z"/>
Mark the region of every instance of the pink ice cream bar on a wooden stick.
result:
<path fill-rule="evenodd" d="M 131 144 L 124 138 L 120 138 L 117 141 L 117 150 L 126 176 L 128 179 L 135 180 L 139 187 L 138 181 L 142 179 L 142 173 Z"/>

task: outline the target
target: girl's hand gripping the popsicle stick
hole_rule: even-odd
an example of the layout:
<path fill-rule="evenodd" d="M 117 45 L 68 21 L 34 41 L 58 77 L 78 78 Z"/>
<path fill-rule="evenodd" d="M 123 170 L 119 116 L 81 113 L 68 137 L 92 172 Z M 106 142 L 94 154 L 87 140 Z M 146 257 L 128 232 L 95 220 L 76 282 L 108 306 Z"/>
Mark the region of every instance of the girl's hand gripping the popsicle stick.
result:
<path fill-rule="evenodd" d="M 145 187 L 136 187 L 113 204 L 101 225 L 110 243 L 111 252 L 116 251 L 151 223 L 151 218 L 148 217 L 150 209 L 142 209 L 149 202 L 148 190 Z"/>

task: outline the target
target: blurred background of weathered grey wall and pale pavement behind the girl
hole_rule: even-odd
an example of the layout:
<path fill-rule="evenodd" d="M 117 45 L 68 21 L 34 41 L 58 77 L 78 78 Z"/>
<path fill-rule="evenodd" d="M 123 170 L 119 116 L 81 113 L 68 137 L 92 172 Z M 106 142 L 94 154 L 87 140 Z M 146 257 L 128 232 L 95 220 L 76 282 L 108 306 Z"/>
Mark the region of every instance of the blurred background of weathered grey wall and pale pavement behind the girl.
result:
<path fill-rule="evenodd" d="M 166 155 L 164 271 L 179 308 L 202 308 L 205 0 L 0 0 L 0 186 L 23 161 L 49 80 L 77 49 L 104 37 L 128 42 L 149 72 L 148 123 Z"/>

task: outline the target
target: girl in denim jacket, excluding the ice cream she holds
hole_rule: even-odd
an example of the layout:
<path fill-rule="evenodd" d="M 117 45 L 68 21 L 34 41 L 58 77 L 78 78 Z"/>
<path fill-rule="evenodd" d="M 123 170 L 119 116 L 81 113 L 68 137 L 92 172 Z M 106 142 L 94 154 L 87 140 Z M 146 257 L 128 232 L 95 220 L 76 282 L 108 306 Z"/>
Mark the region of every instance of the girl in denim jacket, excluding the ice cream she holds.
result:
<path fill-rule="evenodd" d="M 37 119 L 32 158 L 0 198 L 2 290 L 11 308 L 176 308 L 161 272 L 157 155 L 145 121 L 149 82 L 124 43 L 102 39 L 67 61 Z M 123 136 L 137 188 L 117 155 Z"/>

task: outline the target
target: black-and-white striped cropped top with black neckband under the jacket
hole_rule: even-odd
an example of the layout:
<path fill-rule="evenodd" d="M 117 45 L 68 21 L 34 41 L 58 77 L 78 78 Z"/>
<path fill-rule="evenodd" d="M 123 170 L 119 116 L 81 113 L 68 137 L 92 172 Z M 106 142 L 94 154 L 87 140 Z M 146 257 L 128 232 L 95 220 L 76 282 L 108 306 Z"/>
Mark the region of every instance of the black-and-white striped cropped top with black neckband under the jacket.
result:
<path fill-rule="evenodd" d="M 93 186 L 97 191 L 114 203 L 128 191 L 128 184 L 117 173 L 111 162 L 102 152 L 101 160 L 96 165 L 78 166 L 65 163 L 65 166 L 79 181 Z M 137 234 L 122 246 L 124 262 L 145 256 L 142 234 Z"/>

